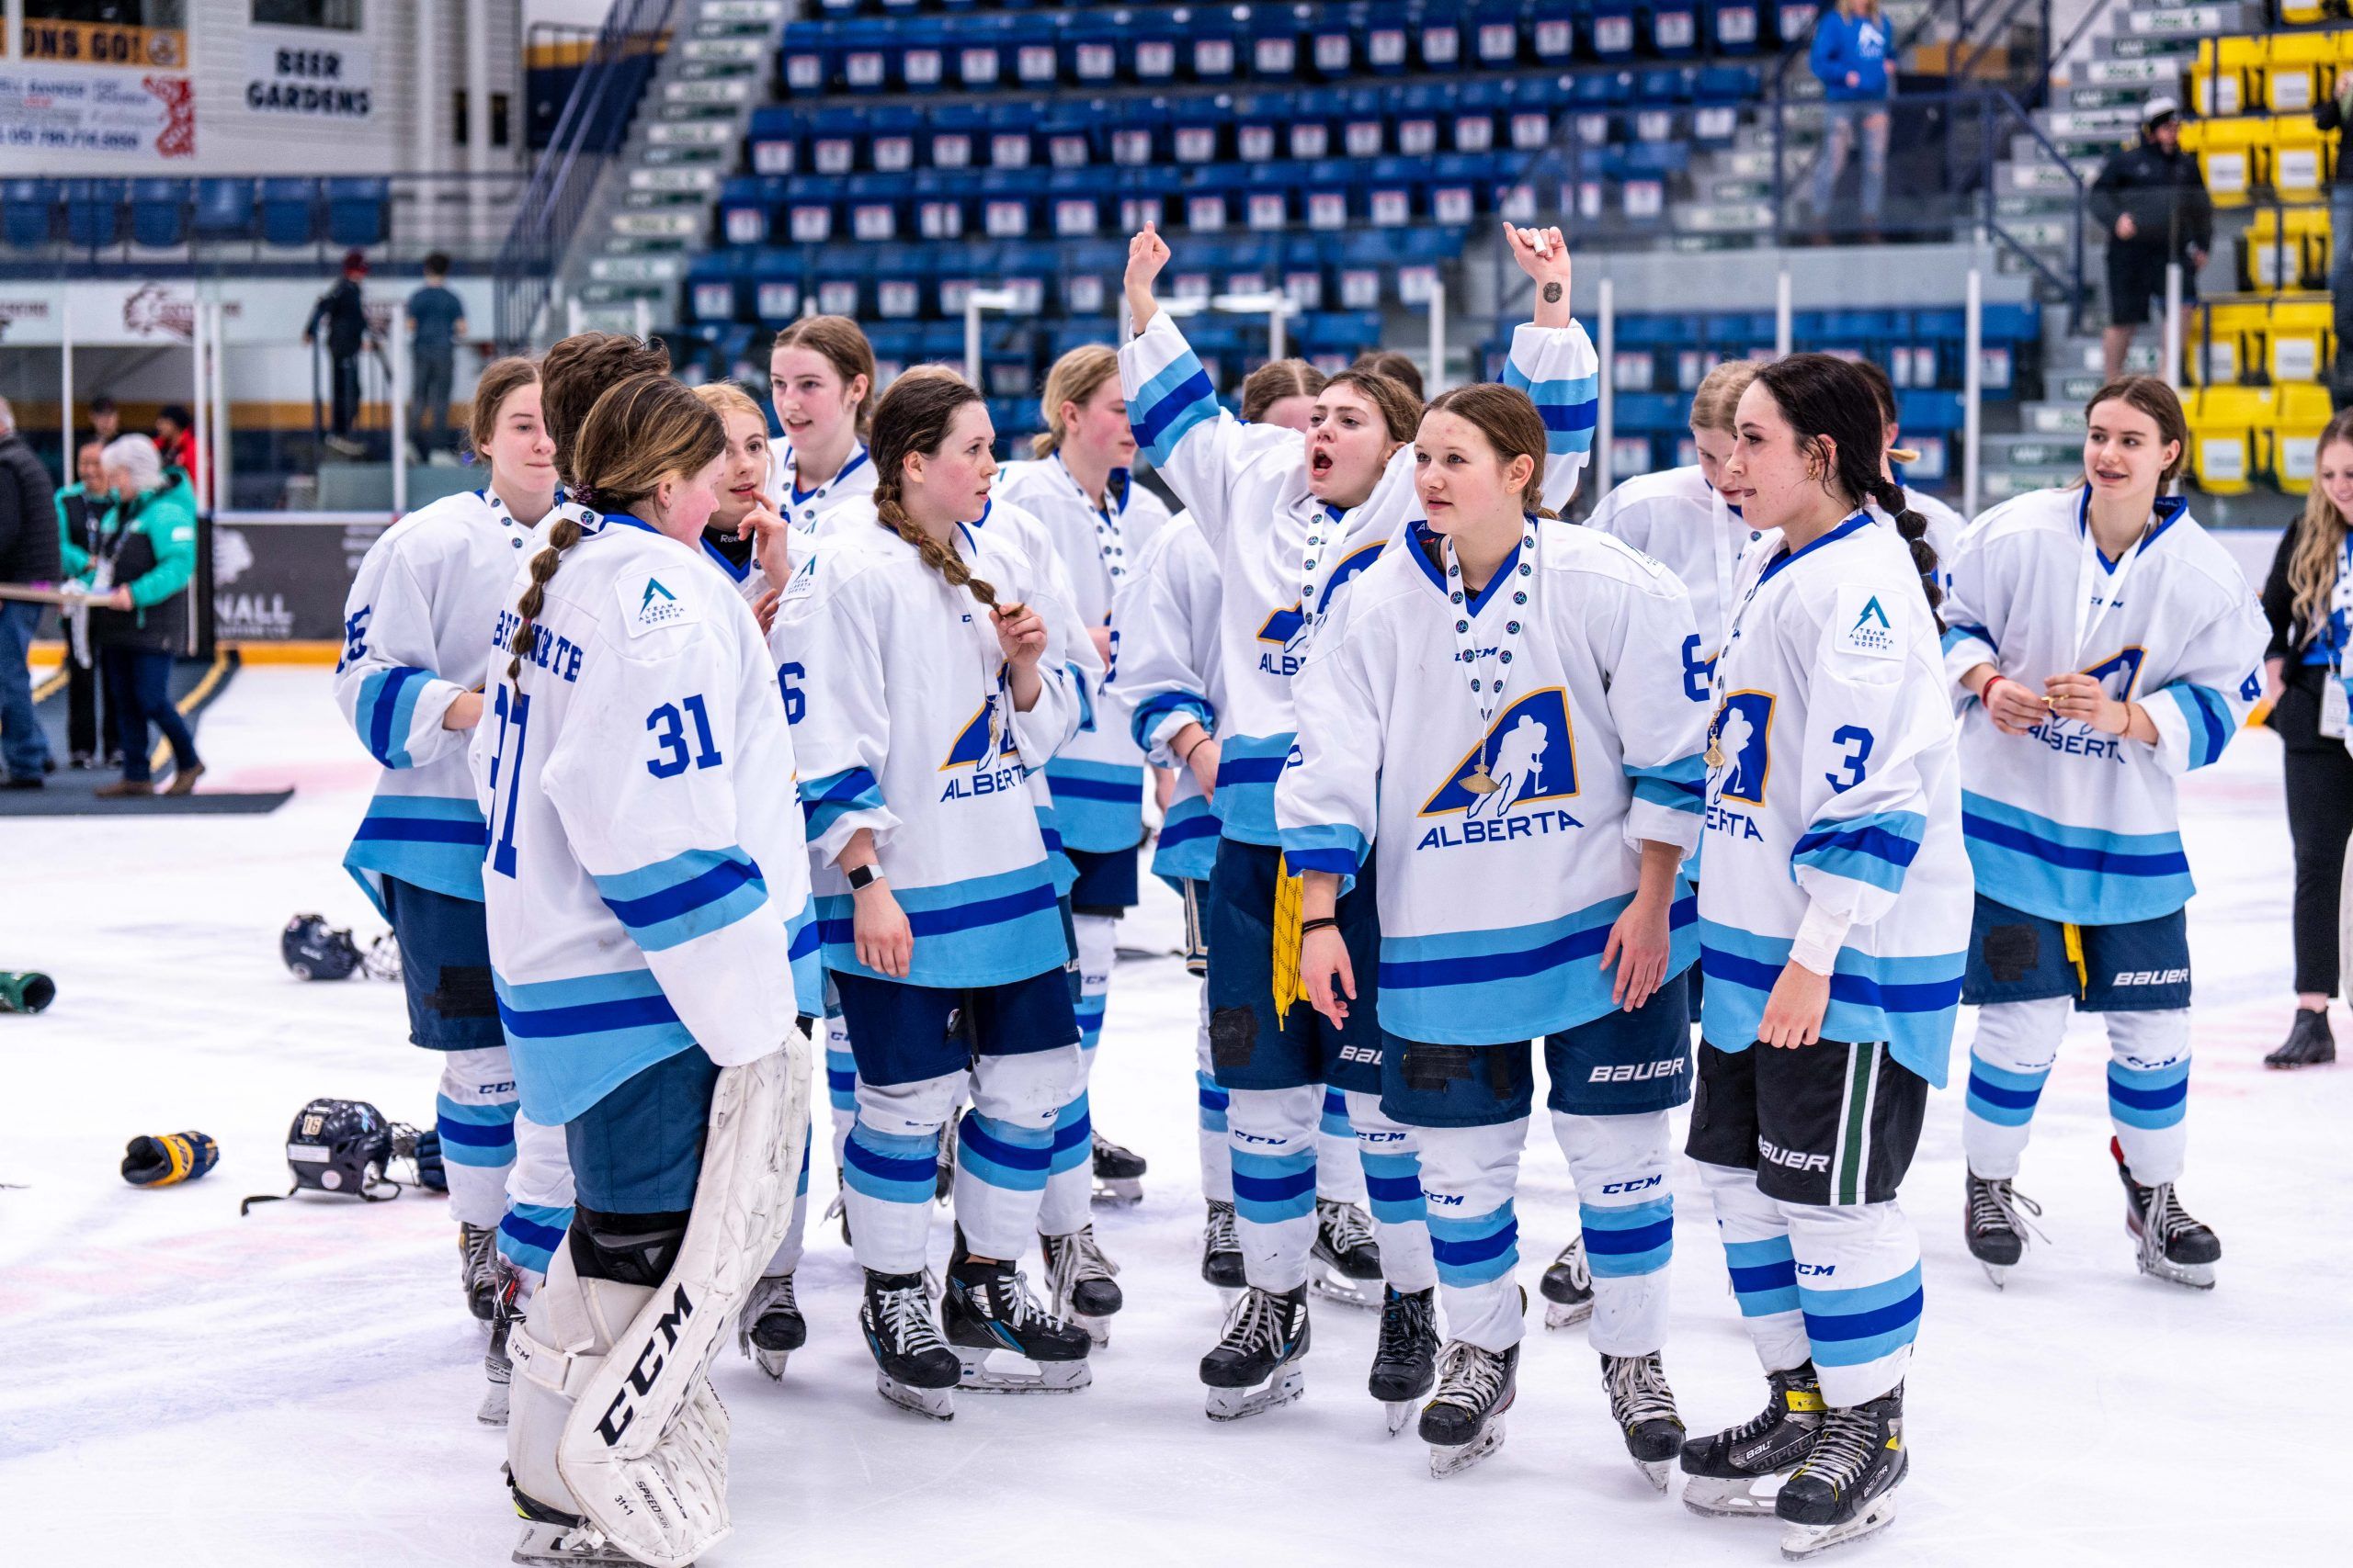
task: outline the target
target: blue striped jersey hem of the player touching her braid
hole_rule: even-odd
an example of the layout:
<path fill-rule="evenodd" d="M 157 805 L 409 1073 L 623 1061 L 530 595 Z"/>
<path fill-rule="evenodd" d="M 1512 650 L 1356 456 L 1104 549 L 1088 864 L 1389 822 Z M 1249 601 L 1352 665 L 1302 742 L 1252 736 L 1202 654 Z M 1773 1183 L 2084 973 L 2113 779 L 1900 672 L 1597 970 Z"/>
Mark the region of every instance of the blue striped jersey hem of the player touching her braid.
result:
<path fill-rule="evenodd" d="M 993 877 L 901 886 L 894 896 L 915 933 L 906 985 L 1005 985 L 1071 961 L 1054 870 L 1042 858 Z M 816 919 L 826 969 L 871 980 L 892 978 L 859 964 L 849 893 L 819 898 Z"/>

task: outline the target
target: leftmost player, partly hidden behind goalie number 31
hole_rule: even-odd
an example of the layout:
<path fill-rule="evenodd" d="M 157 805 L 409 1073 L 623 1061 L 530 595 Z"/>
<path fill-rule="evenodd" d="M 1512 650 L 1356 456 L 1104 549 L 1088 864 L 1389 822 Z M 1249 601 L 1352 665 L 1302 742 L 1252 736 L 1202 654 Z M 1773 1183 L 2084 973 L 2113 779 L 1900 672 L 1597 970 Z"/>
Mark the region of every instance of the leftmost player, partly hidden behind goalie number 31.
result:
<path fill-rule="evenodd" d="M 384 764 L 344 865 L 393 924 L 409 1039 L 442 1058 L 435 1126 L 466 1305 L 492 1326 L 487 1422 L 506 1420 L 511 1309 L 572 1222 L 562 1128 L 515 1114 L 482 926 L 482 809 L 466 773 L 515 557 L 541 522 L 576 512 L 560 498 L 539 390 L 529 360 L 485 367 L 471 437 L 489 482 L 409 512 L 369 545 L 334 670 L 344 717 Z"/>

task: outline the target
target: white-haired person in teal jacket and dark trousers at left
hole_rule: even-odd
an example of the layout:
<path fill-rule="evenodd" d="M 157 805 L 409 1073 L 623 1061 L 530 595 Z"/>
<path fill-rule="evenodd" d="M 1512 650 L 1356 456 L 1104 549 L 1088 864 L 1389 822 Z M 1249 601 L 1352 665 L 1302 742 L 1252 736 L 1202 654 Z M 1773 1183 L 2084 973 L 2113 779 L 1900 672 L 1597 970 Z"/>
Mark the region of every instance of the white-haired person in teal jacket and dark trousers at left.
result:
<path fill-rule="evenodd" d="M 99 463 L 108 510 L 92 550 L 89 583 L 111 590 L 89 611 L 89 642 L 106 677 L 106 708 L 122 748 L 122 778 L 96 795 L 153 795 L 148 773 L 148 724 L 172 743 L 172 785 L 165 795 L 195 790 L 205 764 L 195 755 L 188 719 L 172 705 L 172 661 L 188 639 L 188 578 L 195 574 L 195 496 L 162 468 L 155 442 L 125 435 Z M 49 536 L 56 538 L 54 534 Z"/>

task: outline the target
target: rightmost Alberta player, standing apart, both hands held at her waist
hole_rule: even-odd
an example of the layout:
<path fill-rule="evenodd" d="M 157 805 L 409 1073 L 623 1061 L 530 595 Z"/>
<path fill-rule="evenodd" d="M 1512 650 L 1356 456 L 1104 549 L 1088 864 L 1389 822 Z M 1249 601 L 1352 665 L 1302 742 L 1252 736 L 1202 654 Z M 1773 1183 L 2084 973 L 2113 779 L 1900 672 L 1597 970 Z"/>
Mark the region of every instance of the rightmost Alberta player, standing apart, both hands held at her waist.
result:
<path fill-rule="evenodd" d="M 2231 552 L 2165 494 L 2188 451 L 2172 388 L 2125 376 L 2085 418 L 2085 482 L 1986 512 L 1953 564 L 1946 670 L 1974 698 L 1962 1001 L 1981 1009 L 1962 1225 L 2000 1284 L 2038 1213 L 2012 1182 L 2059 1037 L 2068 1013 L 2106 1013 L 2108 1150 L 2141 1272 L 2209 1288 L 2221 1241 L 2174 1194 L 2195 891 L 2174 780 L 2221 757 L 2261 696 L 2271 628 Z"/>

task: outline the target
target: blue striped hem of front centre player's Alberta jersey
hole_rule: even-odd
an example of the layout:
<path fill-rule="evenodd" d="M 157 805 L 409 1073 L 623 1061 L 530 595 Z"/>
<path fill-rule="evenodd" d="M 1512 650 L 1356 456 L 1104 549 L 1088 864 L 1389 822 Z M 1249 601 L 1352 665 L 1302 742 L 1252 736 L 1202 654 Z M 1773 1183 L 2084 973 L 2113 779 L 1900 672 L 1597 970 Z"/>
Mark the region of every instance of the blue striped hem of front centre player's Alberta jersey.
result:
<path fill-rule="evenodd" d="M 1529 926 L 1384 936 L 1381 1027 L 1400 1039 L 1478 1046 L 1600 1018 L 1614 1006 L 1602 947 L 1628 903 L 1633 893 Z M 1680 973 L 1699 959 L 1699 900 L 1689 889 L 1668 907 L 1666 924 L 1666 966 Z"/>

